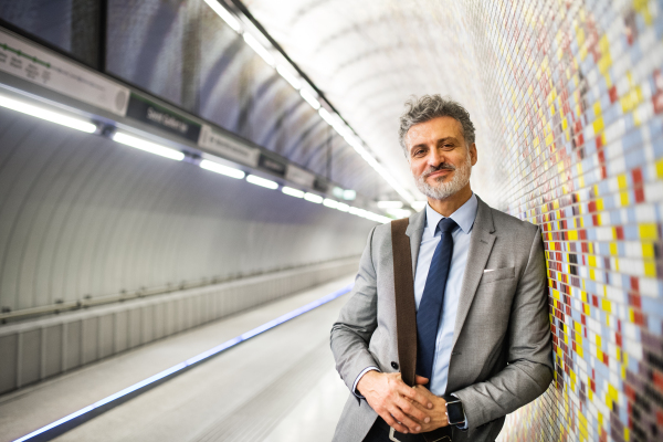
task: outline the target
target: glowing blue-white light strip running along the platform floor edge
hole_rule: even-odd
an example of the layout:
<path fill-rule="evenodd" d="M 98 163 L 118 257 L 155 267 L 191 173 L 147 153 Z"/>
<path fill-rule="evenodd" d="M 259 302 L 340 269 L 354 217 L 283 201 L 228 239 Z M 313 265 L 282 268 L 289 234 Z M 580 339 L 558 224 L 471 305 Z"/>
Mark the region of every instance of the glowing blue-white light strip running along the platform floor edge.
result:
<path fill-rule="evenodd" d="M 39 436 L 40 434 L 45 433 L 49 430 L 53 430 L 53 429 L 55 429 L 55 428 L 57 428 L 57 427 L 60 427 L 60 425 L 62 425 L 64 423 L 71 422 L 72 420 L 74 420 L 76 418 L 83 417 L 83 415 L 90 413 L 93 410 L 96 410 L 96 409 L 98 409 L 101 407 L 104 407 L 104 406 L 108 406 L 108 404 L 110 404 L 114 401 L 118 401 L 119 399 L 126 397 L 129 393 L 138 392 L 140 389 L 145 389 L 145 391 L 147 391 L 148 390 L 147 387 L 149 387 L 154 382 L 157 382 L 160 379 L 164 379 L 164 378 L 167 378 L 167 377 L 177 376 L 178 373 L 182 372 L 183 370 L 189 369 L 189 368 L 191 368 L 194 365 L 204 362 L 206 360 L 212 358 L 213 356 L 217 356 L 220 352 L 222 352 L 222 351 L 224 351 L 224 350 L 227 350 L 227 349 L 229 349 L 231 347 L 234 347 L 235 345 L 238 345 L 240 343 L 243 343 L 244 340 L 251 339 L 252 337 L 257 336 L 261 333 L 264 333 L 264 332 L 266 332 L 266 330 L 269 330 L 271 328 L 274 328 L 277 325 L 281 325 L 281 324 L 285 323 L 285 322 L 288 322 L 288 320 L 291 320 L 291 319 L 293 319 L 293 318 L 295 318 L 295 317 L 297 317 L 299 315 L 305 314 L 306 312 L 311 312 L 314 308 L 317 308 L 317 307 L 319 307 L 319 306 L 322 306 L 324 304 L 327 304 L 330 301 L 336 299 L 337 297 L 340 297 L 340 296 L 345 295 L 350 290 L 352 290 L 352 285 L 354 285 L 354 283 L 349 284 L 349 285 L 347 285 L 347 286 L 345 286 L 345 287 L 343 287 L 343 288 L 340 288 L 340 290 L 338 290 L 338 291 L 336 291 L 334 293 L 330 293 L 330 294 L 328 294 L 326 296 L 323 296 L 319 299 L 313 301 L 313 302 L 311 302 L 311 303 L 308 303 L 308 304 L 306 304 L 306 305 L 304 305 L 304 306 L 302 306 L 299 308 L 296 308 L 296 309 L 294 309 L 292 312 L 288 312 L 285 315 L 278 316 L 276 319 L 272 319 L 269 323 L 265 323 L 265 324 L 263 324 L 263 325 L 261 325 L 259 327 L 255 327 L 252 330 L 249 330 L 246 333 L 241 334 L 238 337 L 234 337 L 234 338 L 232 338 L 230 340 L 227 340 L 225 343 L 223 343 L 221 345 L 218 345 L 217 347 L 210 348 L 209 350 L 203 351 L 200 355 L 196 355 L 192 358 L 189 358 L 189 359 L 185 360 L 183 362 L 180 362 L 180 364 L 178 364 L 176 366 L 172 366 L 172 367 L 170 367 L 170 368 L 168 368 L 168 369 L 166 369 L 166 370 L 164 370 L 161 372 L 158 372 L 158 373 L 156 373 L 154 376 L 150 376 L 149 378 L 144 379 L 140 382 L 134 383 L 133 386 L 127 387 L 127 388 L 125 388 L 122 391 L 118 391 L 118 392 L 116 392 L 114 394 L 110 394 L 110 396 L 108 396 L 108 397 L 106 397 L 106 398 L 104 398 L 104 399 L 102 399 L 102 400 L 99 400 L 97 402 L 94 402 L 91 406 L 82 408 L 81 410 L 75 411 L 75 412 L 73 412 L 73 413 L 71 413 L 69 415 L 65 415 L 64 418 L 59 419 L 55 422 L 49 423 L 48 425 L 42 427 L 39 430 L 34 430 L 32 433 L 25 434 L 24 436 L 19 438 L 17 440 L 14 440 L 13 442 L 29 441 L 29 440 L 31 440 L 33 438 Z M 110 408 L 113 408 L 113 407 L 110 407 Z M 110 408 L 108 408 L 108 410 Z M 81 422 L 81 423 L 83 423 L 83 422 Z M 77 425 L 75 425 L 75 427 L 77 427 Z M 40 438 L 40 440 L 43 440 L 43 439 Z"/>

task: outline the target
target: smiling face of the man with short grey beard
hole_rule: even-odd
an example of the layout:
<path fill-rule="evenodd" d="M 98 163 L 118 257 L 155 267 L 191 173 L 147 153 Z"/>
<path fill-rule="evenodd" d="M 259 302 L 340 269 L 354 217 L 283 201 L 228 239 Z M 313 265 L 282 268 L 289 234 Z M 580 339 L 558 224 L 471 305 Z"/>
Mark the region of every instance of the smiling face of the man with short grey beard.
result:
<path fill-rule="evenodd" d="M 417 188 L 427 197 L 445 200 L 470 188 L 476 146 L 465 146 L 457 119 L 438 117 L 412 126 L 406 135 L 406 146 Z"/>

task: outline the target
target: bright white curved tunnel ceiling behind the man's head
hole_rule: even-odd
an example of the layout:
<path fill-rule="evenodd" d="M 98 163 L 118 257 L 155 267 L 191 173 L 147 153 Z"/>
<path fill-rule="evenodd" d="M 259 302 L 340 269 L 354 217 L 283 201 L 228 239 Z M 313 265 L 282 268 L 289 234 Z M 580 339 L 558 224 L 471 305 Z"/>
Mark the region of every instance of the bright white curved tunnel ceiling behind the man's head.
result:
<path fill-rule="evenodd" d="M 481 20 L 482 8 L 439 0 L 244 4 L 418 199 L 423 196 L 397 137 L 399 115 L 411 95 L 440 93 L 461 102 L 476 126 L 482 160 L 474 175 L 493 164 L 481 75 L 469 44 L 476 35 L 470 39 L 466 31 L 471 21 Z"/>

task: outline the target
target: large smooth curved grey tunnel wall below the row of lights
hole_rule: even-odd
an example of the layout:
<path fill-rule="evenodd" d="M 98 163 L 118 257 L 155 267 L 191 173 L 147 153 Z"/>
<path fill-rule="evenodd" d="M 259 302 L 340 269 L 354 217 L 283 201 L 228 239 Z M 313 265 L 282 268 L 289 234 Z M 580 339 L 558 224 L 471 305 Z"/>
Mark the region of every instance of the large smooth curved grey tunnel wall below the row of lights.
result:
<path fill-rule="evenodd" d="M 0 158 L 4 311 L 356 256 L 373 225 L 7 109 Z"/>

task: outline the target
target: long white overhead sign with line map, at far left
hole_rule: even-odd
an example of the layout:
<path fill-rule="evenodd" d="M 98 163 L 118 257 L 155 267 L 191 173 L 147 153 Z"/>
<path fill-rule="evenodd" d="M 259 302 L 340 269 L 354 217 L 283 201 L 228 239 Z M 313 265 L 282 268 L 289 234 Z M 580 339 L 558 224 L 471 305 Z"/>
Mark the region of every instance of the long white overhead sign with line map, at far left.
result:
<path fill-rule="evenodd" d="M 124 116 L 129 90 L 0 29 L 0 71 Z"/>

